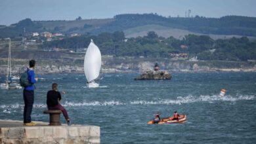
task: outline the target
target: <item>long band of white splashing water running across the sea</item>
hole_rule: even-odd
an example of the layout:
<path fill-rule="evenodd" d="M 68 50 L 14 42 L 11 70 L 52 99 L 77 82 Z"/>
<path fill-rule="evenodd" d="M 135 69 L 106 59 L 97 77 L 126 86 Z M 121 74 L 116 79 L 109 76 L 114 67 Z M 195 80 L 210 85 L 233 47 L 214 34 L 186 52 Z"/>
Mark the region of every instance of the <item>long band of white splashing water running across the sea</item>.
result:
<path fill-rule="evenodd" d="M 113 105 L 171 105 L 182 103 L 197 103 L 197 102 L 207 102 L 213 103 L 214 101 L 240 101 L 240 100 L 252 100 L 255 96 L 186 96 L 186 97 L 177 97 L 176 99 L 160 99 L 156 98 L 153 100 L 135 100 L 129 102 L 121 102 L 121 101 L 83 101 L 83 102 L 75 102 L 75 101 L 65 101 L 62 103 L 64 107 L 81 107 L 81 106 L 113 106 Z M 37 109 L 46 109 L 47 105 L 43 103 L 37 103 L 33 105 L 34 108 Z M 24 104 L 16 103 L 12 105 L 0 105 L 1 111 L 3 113 L 11 113 L 14 112 L 15 109 L 24 109 Z"/>

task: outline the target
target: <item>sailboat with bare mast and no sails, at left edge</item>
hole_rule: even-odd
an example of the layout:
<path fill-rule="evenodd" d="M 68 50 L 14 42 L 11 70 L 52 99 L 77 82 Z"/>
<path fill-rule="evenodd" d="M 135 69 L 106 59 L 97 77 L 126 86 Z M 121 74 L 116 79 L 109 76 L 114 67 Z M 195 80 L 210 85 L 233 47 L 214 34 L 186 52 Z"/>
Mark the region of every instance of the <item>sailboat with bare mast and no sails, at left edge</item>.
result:
<path fill-rule="evenodd" d="M 9 54 L 8 54 L 8 66 L 7 66 L 7 80 L 5 83 L 1 83 L 1 89 L 20 89 L 22 86 L 16 81 L 12 81 L 12 69 L 11 69 L 11 39 L 9 39 Z"/>

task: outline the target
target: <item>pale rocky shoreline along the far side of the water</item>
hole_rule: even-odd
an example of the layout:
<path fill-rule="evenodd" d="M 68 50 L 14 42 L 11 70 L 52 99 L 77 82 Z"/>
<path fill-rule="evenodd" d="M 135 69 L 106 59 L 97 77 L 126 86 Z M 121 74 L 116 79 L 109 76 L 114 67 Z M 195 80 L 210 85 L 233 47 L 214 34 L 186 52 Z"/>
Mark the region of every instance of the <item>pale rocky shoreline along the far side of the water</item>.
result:
<path fill-rule="evenodd" d="M 7 61 L 0 59 L 0 73 L 6 75 Z M 57 63 L 53 61 L 38 61 L 35 71 L 39 75 L 54 73 L 84 73 L 83 63 Z M 101 73 L 143 73 L 153 70 L 155 60 L 103 60 Z M 18 74 L 26 69 L 28 60 L 14 59 L 12 73 Z M 161 60 L 158 62 L 161 69 L 171 73 L 197 73 L 197 72 L 256 72 L 256 62 L 188 62 Z"/>

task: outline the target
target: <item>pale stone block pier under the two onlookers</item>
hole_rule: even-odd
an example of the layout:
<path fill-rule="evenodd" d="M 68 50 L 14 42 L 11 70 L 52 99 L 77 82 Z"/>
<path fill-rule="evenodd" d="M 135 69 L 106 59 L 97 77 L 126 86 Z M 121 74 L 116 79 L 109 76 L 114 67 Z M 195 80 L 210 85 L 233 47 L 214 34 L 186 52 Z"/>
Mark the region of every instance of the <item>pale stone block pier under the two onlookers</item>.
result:
<path fill-rule="evenodd" d="M 100 143 L 99 126 L 72 125 L 48 126 L 37 122 L 36 126 L 24 126 L 22 121 L 0 120 L 0 143 Z"/>

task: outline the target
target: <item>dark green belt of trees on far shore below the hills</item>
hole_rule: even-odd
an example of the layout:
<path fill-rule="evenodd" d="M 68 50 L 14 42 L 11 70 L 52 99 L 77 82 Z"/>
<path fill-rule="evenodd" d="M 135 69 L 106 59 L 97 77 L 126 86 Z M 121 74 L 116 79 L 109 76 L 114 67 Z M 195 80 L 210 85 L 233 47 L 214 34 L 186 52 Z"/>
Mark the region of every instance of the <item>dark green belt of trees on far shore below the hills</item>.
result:
<path fill-rule="evenodd" d="M 62 40 L 46 42 L 41 48 L 86 48 L 91 39 L 104 55 L 144 56 L 145 58 L 171 58 L 171 54 L 198 56 L 200 60 L 256 60 L 256 41 L 247 37 L 211 39 L 208 35 L 186 35 L 183 39 L 159 37 L 154 31 L 144 37 L 126 39 L 122 31 L 81 35 Z"/>

